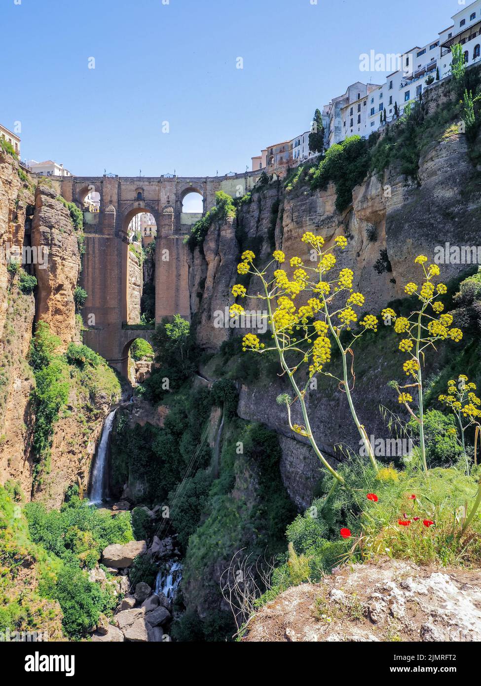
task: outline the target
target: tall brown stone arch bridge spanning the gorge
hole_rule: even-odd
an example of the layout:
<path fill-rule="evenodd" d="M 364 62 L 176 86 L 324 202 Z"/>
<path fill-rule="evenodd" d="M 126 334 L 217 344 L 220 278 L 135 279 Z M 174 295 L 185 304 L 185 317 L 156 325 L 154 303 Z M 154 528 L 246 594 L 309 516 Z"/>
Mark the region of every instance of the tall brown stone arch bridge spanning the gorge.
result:
<path fill-rule="evenodd" d="M 152 332 L 126 328 L 128 305 L 128 226 L 139 213 L 150 213 L 157 225 L 155 320 L 180 314 L 190 319 L 189 266 L 185 235 L 201 214 L 183 213 L 188 193 L 200 193 L 203 213 L 215 204 L 215 193 L 233 197 L 253 188 L 259 171 L 232 176 L 181 178 L 71 176 L 61 180 L 65 200 L 84 209 L 89 193 L 99 193 L 99 213 L 84 212 L 85 254 L 82 287 L 89 294 L 83 315 L 84 340 L 126 375 L 128 351 L 135 338 Z"/>

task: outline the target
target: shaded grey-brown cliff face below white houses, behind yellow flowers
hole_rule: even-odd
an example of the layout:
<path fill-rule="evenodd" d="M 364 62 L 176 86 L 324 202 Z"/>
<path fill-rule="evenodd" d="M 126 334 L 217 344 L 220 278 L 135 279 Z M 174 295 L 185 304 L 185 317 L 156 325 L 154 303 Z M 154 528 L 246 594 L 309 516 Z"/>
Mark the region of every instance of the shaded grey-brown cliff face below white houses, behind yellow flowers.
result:
<path fill-rule="evenodd" d="M 368 176 L 355 187 L 352 205 L 342 214 L 335 208 L 333 185 L 326 191 L 302 187 L 290 193 L 271 185 L 254 192 L 250 202 L 239 208 L 234 224 L 211 226 L 203 246 L 191 255 L 191 311 L 200 344 L 218 351 L 233 333 L 244 333 L 215 326 L 216 311 L 223 311 L 233 301 L 231 288 L 239 282 L 236 265 L 242 250 L 252 249 L 257 259 L 265 262 L 275 237 L 276 247 L 288 259 L 298 255 L 308 261 L 300 242 L 307 230 L 320 233 L 326 246 L 331 246 L 338 235 L 347 237 L 348 246 L 338 266 L 353 269 L 354 289 L 366 296 L 366 311 L 379 314 L 388 302 L 403 297 L 407 281 L 415 280 L 414 255 L 423 253 L 434 261 L 436 247 L 444 247 L 447 241 L 456 246 L 480 244 L 481 192 L 472 182 L 475 174 L 465 136 L 448 132 L 423 150 L 419 183 L 408 181 L 396 169 L 388 169 L 383 178 Z M 440 267 L 443 281 L 448 281 L 469 265 L 447 263 Z M 247 300 L 243 305 L 258 309 L 257 303 Z M 392 391 L 386 383 L 398 376 L 399 370 L 393 372 L 392 355 L 383 357 L 382 353 L 371 360 L 375 373 L 368 378 L 363 377 L 363 355 L 357 354 L 353 397 L 368 432 L 386 437 L 379 405 L 392 405 Z M 292 437 L 285 412 L 275 403 L 277 394 L 285 390 L 283 379 L 272 375 L 262 383 L 244 384 L 238 412 L 242 418 L 266 423 L 281 435 L 284 482 L 298 507 L 303 508 L 312 498 L 319 465 L 302 439 Z M 308 406 L 316 438 L 328 456 L 334 456 L 337 443 L 357 450 L 359 436 L 347 419 L 347 404 L 335 383 L 322 381 L 318 389 L 309 391 Z"/>

